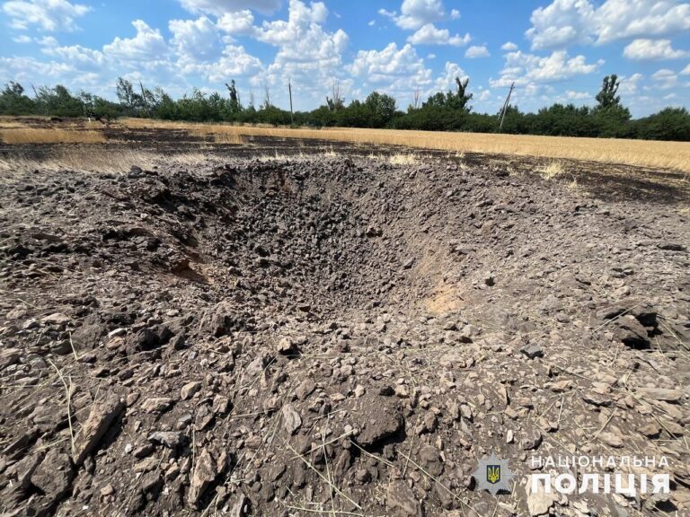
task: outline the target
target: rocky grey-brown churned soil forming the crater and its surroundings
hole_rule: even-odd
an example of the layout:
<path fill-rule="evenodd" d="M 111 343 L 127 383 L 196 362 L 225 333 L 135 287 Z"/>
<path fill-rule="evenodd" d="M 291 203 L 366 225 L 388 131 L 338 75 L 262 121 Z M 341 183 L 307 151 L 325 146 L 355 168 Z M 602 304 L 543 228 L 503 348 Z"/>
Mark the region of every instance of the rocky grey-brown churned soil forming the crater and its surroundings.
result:
<path fill-rule="evenodd" d="M 682 175 L 164 135 L 0 180 L 3 514 L 539 514 L 559 454 L 665 455 L 672 490 L 542 513 L 688 514 Z"/>

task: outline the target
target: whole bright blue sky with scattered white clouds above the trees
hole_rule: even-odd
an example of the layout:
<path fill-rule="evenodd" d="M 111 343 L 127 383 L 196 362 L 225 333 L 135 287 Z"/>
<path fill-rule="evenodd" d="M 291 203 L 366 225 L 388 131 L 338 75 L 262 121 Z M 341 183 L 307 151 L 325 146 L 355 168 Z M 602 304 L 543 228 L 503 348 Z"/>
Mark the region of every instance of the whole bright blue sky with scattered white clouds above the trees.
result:
<path fill-rule="evenodd" d="M 119 75 L 313 109 L 377 90 L 405 109 L 470 78 L 473 110 L 593 104 L 622 77 L 633 116 L 690 105 L 690 4 L 675 0 L 0 0 L 0 83 L 114 98 Z"/>

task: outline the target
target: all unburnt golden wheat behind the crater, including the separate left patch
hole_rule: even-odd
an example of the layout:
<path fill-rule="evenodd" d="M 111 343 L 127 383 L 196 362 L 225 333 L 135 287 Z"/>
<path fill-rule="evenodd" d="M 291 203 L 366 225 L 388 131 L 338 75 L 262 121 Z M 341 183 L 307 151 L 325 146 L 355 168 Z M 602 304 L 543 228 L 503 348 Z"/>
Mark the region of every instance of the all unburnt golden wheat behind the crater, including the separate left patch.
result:
<path fill-rule="evenodd" d="M 403 145 L 455 153 L 508 154 L 548 159 L 620 163 L 650 168 L 690 172 L 690 143 L 566 136 L 497 135 L 404 131 L 395 129 L 360 129 L 328 127 L 289 128 L 200 124 L 146 118 L 123 118 L 111 127 L 124 129 L 177 129 L 195 136 L 213 136 L 217 144 L 242 145 L 247 136 L 307 138 L 362 145 Z M 107 141 L 101 127 L 84 128 L 27 127 L 13 119 L 0 119 L 0 139 L 4 144 L 100 144 Z"/>

